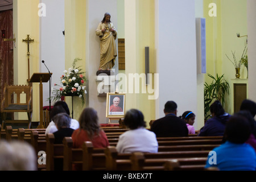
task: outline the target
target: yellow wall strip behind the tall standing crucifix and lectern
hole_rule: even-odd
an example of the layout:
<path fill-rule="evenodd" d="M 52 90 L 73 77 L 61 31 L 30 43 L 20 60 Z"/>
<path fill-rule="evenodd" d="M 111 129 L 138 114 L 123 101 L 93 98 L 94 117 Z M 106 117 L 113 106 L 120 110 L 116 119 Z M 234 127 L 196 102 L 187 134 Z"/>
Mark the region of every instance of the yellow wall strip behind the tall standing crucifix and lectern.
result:
<path fill-rule="evenodd" d="M 34 39 L 30 43 L 30 77 L 33 73 L 39 72 L 39 0 L 13 1 L 13 27 L 16 38 L 14 47 L 14 84 L 28 84 L 28 56 L 27 43 L 23 39 L 30 35 Z M 32 121 L 39 121 L 39 84 L 33 84 L 33 115 Z M 19 114 L 19 117 L 27 118 L 26 114 Z M 21 119 L 21 118 L 19 118 Z"/>

